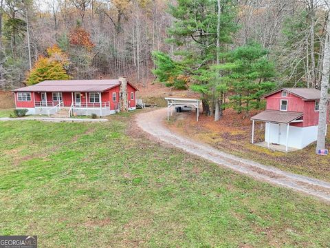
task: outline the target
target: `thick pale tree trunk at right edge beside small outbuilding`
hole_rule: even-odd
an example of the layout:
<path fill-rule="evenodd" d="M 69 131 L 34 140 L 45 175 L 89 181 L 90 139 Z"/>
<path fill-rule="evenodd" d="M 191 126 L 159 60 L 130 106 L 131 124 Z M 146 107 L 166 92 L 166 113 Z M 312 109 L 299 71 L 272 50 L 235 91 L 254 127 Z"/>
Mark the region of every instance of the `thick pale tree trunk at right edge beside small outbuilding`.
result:
<path fill-rule="evenodd" d="M 327 129 L 327 103 L 330 72 L 330 11 L 327 20 L 327 32 L 325 34 L 325 50 L 323 53 L 323 68 L 321 81 L 320 112 L 318 117 L 318 141 L 316 144 L 316 153 L 319 149 L 325 149 L 325 136 Z"/>

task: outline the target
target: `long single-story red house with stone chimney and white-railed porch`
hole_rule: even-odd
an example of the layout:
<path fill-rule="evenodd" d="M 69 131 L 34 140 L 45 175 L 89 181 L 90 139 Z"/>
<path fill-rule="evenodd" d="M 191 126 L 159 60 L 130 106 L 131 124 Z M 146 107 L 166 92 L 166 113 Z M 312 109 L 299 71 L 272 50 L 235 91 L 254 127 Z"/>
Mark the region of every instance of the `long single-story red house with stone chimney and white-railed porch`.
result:
<path fill-rule="evenodd" d="M 135 110 L 137 88 L 125 78 L 54 80 L 12 90 L 17 109 L 58 117 Z"/>

